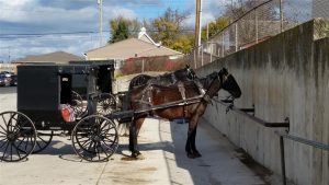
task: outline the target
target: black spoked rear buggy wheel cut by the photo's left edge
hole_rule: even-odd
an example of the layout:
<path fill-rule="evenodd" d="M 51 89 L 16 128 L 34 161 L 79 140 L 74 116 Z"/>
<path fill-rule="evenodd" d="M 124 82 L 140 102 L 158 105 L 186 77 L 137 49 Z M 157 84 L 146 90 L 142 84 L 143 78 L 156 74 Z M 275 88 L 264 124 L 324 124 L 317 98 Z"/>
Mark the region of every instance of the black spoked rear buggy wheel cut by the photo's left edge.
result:
<path fill-rule="evenodd" d="M 0 160 L 21 161 L 35 147 L 36 130 L 32 120 L 19 112 L 0 114 Z"/>

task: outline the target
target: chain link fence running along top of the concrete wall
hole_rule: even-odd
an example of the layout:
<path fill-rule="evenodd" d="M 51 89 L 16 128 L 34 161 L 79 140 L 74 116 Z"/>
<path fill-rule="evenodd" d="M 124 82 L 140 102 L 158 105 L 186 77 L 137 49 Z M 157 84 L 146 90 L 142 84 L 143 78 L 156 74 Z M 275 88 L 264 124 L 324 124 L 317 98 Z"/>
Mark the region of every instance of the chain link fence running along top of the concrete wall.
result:
<path fill-rule="evenodd" d="M 329 18 L 328 0 L 268 0 L 194 48 L 185 60 L 196 69 L 315 18 Z"/>

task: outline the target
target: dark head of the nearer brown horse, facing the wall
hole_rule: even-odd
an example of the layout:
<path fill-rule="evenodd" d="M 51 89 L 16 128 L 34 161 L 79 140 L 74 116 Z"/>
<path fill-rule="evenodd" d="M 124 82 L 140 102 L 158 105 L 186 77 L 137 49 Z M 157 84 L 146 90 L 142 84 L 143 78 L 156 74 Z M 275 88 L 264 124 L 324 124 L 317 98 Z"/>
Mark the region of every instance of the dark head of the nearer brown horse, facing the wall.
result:
<path fill-rule="evenodd" d="M 241 90 L 232 74 L 228 73 L 226 68 L 218 72 L 218 78 L 222 82 L 222 88 L 229 92 L 235 99 L 241 96 Z"/>

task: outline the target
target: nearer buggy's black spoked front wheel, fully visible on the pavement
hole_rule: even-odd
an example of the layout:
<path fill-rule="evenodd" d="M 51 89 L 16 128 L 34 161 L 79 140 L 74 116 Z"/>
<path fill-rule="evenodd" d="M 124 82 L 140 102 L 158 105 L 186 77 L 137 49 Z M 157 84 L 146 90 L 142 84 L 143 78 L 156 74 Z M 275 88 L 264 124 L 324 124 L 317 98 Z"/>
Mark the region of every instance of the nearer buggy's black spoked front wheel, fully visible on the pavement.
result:
<path fill-rule="evenodd" d="M 76 153 L 91 162 L 109 160 L 118 146 L 115 124 L 99 115 L 81 119 L 73 128 L 71 139 Z"/>

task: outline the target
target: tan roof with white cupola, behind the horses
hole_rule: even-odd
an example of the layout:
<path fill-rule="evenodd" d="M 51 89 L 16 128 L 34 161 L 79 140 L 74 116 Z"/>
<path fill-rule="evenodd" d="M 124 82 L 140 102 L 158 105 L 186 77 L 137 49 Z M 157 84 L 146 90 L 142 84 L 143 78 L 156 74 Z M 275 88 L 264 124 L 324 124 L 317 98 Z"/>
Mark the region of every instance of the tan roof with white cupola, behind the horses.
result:
<path fill-rule="evenodd" d="M 174 55 L 183 54 L 155 43 L 144 30 L 139 33 L 138 38 L 124 39 L 87 51 L 88 59 L 128 59 Z"/>

